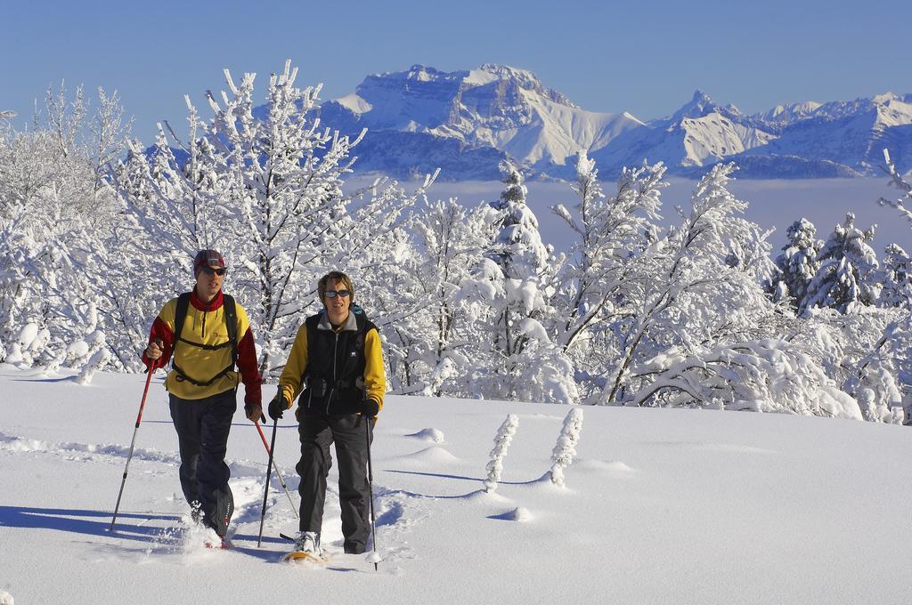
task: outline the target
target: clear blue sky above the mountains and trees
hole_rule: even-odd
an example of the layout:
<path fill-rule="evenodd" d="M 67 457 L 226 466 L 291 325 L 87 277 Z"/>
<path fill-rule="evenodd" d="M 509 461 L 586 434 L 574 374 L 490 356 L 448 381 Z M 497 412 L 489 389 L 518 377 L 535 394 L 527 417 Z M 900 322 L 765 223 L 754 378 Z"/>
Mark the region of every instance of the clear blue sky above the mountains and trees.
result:
<path fill-rule="evenodd" d="M 413 64 L 523 67 L 595 111 L 672 113 L 701 88 L 742 111 L 912 92 L 912 3 L 376 0 L 154 3 L 0 0 L 0 109 L 32 114 L 48 85 L 117 89 L 134 133 L 181 128 L 223 67 L 345 95 Z M 182 128 L 181 128 L 182 129 Z M 181 130 L 179 130 L 181 131 Z"/>

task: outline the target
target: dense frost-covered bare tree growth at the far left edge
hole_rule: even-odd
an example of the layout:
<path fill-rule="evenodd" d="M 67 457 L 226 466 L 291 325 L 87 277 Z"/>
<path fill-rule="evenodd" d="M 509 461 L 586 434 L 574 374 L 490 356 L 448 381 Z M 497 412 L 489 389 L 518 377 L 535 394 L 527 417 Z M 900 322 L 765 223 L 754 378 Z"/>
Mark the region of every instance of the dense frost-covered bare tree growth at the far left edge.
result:
<path fill-rule="evenodd" d="M 102 163 L 122 149 L 130 126 L 116 93 L 99 88 L 98 95 L 92 113 L 81 89 L 72 101 L 63 87 L 48 90 L 47 111 L 36 114 L 33 129 L 7 128 L 0 141 L 0 341 L 27 323 L 47 329 L 46 353 L 36 364 L 82 337 L 89 302 L 98 302 L 104 322 L 117 313 L 111 298 L 124 257 L 115 255 L 100 273 L 81 266 L 103 257 L 123 226 Z"/>

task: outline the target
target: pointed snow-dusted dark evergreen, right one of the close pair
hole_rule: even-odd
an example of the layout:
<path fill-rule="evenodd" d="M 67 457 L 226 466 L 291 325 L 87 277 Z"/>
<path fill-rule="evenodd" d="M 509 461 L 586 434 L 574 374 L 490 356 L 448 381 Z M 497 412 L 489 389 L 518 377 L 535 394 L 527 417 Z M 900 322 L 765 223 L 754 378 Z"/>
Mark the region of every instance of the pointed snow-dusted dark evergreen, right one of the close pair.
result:
<path fill-rule="evenodd" d="M 845 223 L 836 225 L 820 250 L 820 267 L 807 286 L 799 313 L 814 307 L 852 313 L 859 305 L 876 302 L 880 294 L 880 283 L 876 281 L 879 264 L 868 243 L 874 239 L 875 230 L 876 225 L 861 231 L 855 227 L 855 214 L 845 215 Z"/>

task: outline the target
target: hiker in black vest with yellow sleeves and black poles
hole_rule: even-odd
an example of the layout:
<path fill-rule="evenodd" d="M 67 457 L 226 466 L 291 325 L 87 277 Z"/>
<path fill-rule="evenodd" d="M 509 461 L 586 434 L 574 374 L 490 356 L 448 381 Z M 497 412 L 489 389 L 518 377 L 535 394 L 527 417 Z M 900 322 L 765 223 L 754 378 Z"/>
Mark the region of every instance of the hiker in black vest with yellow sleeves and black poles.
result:
<path fill-rule="evenodd" d="M 386 391 L 383 354 L 377 326 L 353 306 L 355 287 L 345 273 L 327 273 L 317 292 L 324 308 L 298 329 L 269 415 L 281 418 L 300 395 L 301 531 L 295 550 L 321 555 L 329 446 L 335 443 L 343 547 L 359 554 L 370 533 L 368 448 Z"/>

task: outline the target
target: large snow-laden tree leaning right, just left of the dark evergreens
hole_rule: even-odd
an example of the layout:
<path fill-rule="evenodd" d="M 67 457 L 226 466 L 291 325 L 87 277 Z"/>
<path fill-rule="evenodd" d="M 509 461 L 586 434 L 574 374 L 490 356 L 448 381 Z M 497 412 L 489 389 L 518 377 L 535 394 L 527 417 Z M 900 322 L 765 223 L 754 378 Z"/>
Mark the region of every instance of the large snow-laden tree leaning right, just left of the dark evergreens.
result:
<path fill-rule="evenodd" d="M 769 251 L 759 227 L 736 216 L 747 204 L 728 190 L 732 170 L 732 164 L 710 169 L 693 193 L 689 213 L 679 210 L 682 223 L 637 263 L 624 292 L 625 314 L 613 326 L 614 357 L 594 403 L 644 403 L 636 391 L 648 388 L 651 374 L 635 376 L 631 370 L 658 354 L 678 349 L 700 354 L 720 344 L 767 338 L 782 323 L 758 281 L 765 268 L 731 262 L 733 242 L 744 250 L 743 242 L 753 241 L 767 250 L 767 258 Z"/>

